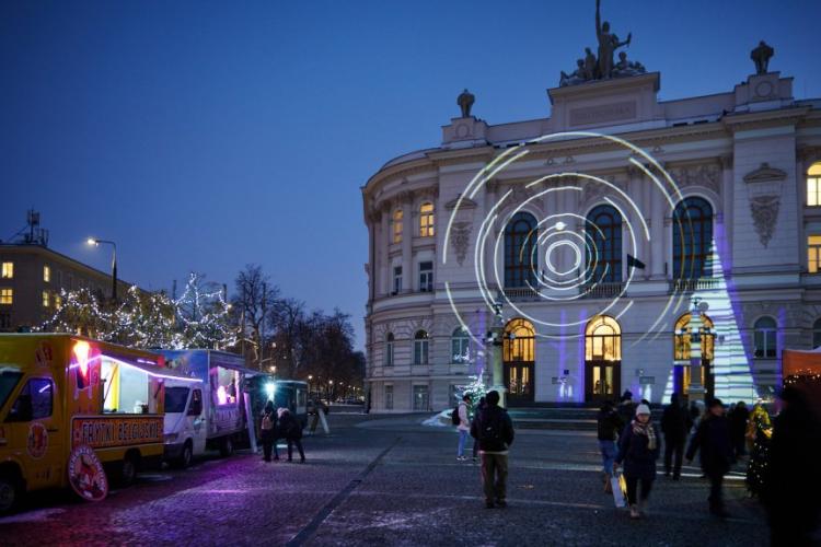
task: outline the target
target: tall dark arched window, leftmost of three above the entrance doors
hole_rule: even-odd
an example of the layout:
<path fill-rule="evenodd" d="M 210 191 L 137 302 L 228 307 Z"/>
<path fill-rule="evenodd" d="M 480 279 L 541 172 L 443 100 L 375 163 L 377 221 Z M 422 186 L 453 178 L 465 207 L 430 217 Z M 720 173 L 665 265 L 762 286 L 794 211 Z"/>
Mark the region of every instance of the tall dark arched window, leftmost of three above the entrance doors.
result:
<path fill-rule="evenodd" d="M 535 288 L 539 258 L 535 256 L 536 219 L 518 212 L 505 228 L 505 287 Z"/>

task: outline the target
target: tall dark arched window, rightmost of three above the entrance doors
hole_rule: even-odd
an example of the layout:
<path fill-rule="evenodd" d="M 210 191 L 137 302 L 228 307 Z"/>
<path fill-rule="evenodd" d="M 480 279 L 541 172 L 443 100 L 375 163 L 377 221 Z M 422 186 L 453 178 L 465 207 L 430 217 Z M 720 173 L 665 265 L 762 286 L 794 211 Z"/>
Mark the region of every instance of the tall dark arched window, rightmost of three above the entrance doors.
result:
<path fill-rule="evenodd" d="M 712 271 L 713 207 L 691 197 L 673 211 L 673 279 L 697 279 Z"/>

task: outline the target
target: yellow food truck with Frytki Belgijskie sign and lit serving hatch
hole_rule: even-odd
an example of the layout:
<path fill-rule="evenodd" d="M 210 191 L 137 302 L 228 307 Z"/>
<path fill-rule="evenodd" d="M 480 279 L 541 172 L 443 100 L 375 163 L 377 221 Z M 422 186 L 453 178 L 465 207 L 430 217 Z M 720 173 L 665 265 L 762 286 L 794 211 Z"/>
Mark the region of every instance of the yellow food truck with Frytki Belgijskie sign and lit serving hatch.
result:
<path fill-rule="evenodd" d="M 0 512 L 71 486 L 103 499 L 163 455 L 164 382 L 147 351 L 63 334 L 0 335 Z"/>

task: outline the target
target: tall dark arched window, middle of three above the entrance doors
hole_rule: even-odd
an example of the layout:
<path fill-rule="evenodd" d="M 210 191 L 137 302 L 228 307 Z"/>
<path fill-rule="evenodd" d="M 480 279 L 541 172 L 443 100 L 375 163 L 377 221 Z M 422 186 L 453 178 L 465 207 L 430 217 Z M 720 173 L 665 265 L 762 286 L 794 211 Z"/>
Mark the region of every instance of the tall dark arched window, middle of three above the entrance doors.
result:
<path fill-rule="evenodd" d="M 622 280 L 622 216 L 602 205 L 587 216 L 587 267 L 591 282 Z M 593 256 L 593 253 L 595 255 Z M 592 271 L 590 271 L 592 269 Z"/>

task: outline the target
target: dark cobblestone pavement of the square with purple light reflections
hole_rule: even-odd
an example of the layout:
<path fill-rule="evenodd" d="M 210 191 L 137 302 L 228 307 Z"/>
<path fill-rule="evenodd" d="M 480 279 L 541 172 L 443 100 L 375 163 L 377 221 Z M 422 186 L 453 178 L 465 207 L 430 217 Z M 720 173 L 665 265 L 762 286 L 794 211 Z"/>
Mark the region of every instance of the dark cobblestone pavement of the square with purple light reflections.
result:
<path fill-rule="evenodd" d="M 329 437 L 305 439 L 305 465 L 240 454 L 142 474 L 100 503 L 32 496 L 0 519 L 0 544 L 766 545 L 738 474 L 726 488 L 728 521 L 708 515 L 694 467 L 679 482 L 659 476 L 649 517 L 629 521 L 602 492 L 589 432 L 520 431 L 510 505 L 487 510 L 478 467 L 455 461 L 455 433 L 419 421 L 332 414 Z"/>

